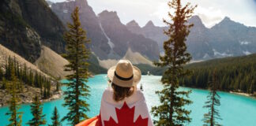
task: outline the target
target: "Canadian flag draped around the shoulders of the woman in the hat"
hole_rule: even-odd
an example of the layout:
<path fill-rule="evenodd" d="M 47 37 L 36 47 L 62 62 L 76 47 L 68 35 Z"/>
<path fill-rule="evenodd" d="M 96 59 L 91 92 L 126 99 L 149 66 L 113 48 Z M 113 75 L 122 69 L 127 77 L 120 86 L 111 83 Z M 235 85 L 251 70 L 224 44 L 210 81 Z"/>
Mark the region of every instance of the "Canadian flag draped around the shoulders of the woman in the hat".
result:
<path fill-rule="evenodd" d="M 104 91 L 100 116 L 90 120 L 92 123 L 77 126 L 153 126 L 145 97 L 140 90 L 135 91 L 129 98 L 115 102 L 111 87 Z"/>

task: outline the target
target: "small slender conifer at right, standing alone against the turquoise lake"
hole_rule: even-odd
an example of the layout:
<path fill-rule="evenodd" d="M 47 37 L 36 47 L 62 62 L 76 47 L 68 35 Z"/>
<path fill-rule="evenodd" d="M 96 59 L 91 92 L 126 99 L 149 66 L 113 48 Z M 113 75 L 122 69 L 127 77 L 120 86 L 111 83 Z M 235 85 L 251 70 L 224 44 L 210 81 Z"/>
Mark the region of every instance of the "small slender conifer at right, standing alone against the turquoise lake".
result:
<path fill-rule="evenodd" d="M 221 120 L 220 113 L 218 109 L 216 109 L 216 106 L 220 106 L 220 95 L 217 94 L 217 77 L 216 77 L 216 70 L 213 72 L 212 81 L 209 82 L 210 92 L 207 96 L 207 100 L 205 102 L 204 108 L 209 109 L 208 113 L 204 114 L 204 126 L 220 126 L 216 122 L 216 120 Z"/>

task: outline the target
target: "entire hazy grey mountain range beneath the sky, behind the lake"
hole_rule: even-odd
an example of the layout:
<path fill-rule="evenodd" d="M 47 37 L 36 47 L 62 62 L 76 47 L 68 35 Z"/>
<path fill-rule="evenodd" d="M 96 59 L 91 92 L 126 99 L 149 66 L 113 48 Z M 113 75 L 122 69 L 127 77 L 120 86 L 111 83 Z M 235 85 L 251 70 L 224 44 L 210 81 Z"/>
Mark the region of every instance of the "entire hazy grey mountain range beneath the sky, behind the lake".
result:
<path fill-rule="evenodd" d="M 96 15 L 86 0 L 50 4 L 64 24 L 70 21 L 74 7 L 80 7 L 81 24 L 88 31 L 92 51 L 100 60 L 120 59 L 128 48 L 151 61 L 158 58 L 159 52 L 164 52 L 163 43 L 168 40 L 164 30 L 168 27 L 156 26 L 151 20 L 144 27 L 140 27 L 136 20 L 124 25 L 116 12 L 104 10 Z M 228 17 L 212 28 L 206 28 L 198 16 L 191 17 L 188 22 L 194 27 L 190 29 L 186 44 L 195 61 L 256 53 L 256 28 L 239 24 Z"/>

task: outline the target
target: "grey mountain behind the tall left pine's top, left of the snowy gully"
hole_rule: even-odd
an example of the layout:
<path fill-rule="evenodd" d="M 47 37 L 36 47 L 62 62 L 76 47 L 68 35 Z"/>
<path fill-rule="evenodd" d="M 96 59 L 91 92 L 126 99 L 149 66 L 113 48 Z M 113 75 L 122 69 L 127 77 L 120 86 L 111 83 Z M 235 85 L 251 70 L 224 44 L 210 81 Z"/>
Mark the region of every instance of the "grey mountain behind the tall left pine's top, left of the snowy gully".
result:
<path fill-rule="evenodd" d="M 63 24 L 66 24 L 71 22 L 70 15 L 76 6 L 79 6 L 80 9 L 81 25 L 87 31 L 88 38 L 92 40 L 89 46 L 97 56 L 106 58 L 111 47 L 107 44 L 107 38 L 100 28 L 100 22 L 92 8 L 88 6 L 87 1 L 57 2 L 51 5 L 51 9 L 62 20 Z"/>

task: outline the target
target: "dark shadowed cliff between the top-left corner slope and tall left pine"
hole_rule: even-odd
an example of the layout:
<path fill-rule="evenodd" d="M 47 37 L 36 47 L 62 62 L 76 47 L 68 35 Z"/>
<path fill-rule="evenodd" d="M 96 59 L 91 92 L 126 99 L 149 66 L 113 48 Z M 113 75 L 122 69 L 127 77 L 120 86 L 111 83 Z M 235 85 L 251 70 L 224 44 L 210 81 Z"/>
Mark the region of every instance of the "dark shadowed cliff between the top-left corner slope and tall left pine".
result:
<path fill-rule="evenodd" d="M 62 21 L 53 13 L 45 0 L 19 1 L 23 19 L 41 36 L 42 44 L 57 53 L 64 52 L 62 35 L 66 31 Z"/>

